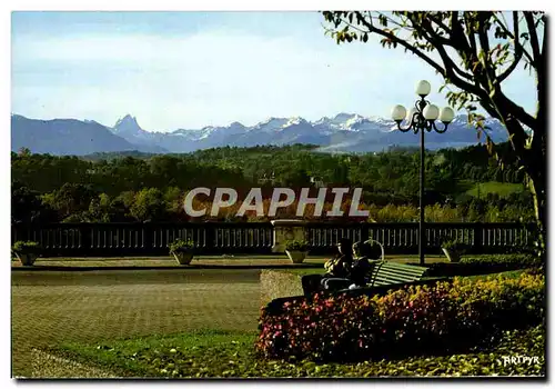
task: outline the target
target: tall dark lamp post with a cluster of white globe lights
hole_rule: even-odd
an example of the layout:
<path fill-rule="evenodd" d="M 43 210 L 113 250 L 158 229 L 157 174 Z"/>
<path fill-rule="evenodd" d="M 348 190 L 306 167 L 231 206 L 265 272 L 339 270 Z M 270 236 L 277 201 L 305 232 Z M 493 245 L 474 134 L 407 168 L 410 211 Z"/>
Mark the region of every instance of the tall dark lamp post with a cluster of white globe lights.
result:
<path fill-rule="evenodd" d="M 418 256 L 420 263 L 424 265 L 424 246 L 425 246 L 425 230 L 424 230 L 424 133 L 426 131 L 435 131 L 443 133 L 447 130 L 448 124 L 453 121 L 455 112 L 450 107 L 445 107 L 440 111 L 437 106 L 430 103 L 426 96 L 430 94 L 432 87 L 430 82 L 422 80 L 416 84 L 416 94 L 420 99 L 416 100 L 414 108 L 408 112 L 403 106 L 395 106 L 392 109 L 391 117 L 397 123 L 397 130 L 402 132 L 420 131 L 420 223 L 418 223 Z M 440 119 L 443 122 L 443 128 L 435 124 Z M 406 120 L 408 126 L 401 127 L 401 122 Z"/>

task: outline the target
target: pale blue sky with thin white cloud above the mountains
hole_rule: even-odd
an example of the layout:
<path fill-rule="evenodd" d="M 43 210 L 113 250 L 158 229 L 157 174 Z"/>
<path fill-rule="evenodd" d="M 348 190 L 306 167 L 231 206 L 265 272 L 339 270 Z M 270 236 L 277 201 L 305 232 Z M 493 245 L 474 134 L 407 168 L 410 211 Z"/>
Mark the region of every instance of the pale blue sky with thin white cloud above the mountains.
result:
<path fill-rule="evenodd" d="M 147 130 L 339 112 L 389 117 L 440 77 L 376 40 L 337 46 L 317 12 L 13 12 L 12 112 Z M 528 111 L 534 79 L 505 88 Z"/>

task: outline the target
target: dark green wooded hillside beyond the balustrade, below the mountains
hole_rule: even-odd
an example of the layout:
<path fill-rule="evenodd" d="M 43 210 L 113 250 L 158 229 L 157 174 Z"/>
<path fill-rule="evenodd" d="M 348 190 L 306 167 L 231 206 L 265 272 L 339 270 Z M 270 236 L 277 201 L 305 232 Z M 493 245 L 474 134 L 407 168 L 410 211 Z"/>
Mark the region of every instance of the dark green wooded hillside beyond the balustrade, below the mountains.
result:
<path fill-rule="evenodd" d="M 506 146 L 497 148 L 503 156 L 512 154 Z M 272 187 L 310 187 L 310 178 L 319 178 L 326 186 L 363 188 L 361 207 L 370 210 L 371 220 L 417 220 L 417 150 L 329 154 L 313 149 L 301 144 L 225 147 L 191 154 L 139 158 L 131 153 L 100 160 L 12 153 L 12 217 L 16 221 L 185 221 L 183 194 L 195 187 L 235 188 L 240 201 L 250 188 L 262 187 L 268 200 Z M 427 152 L 426 159 L 426 220 L 534 218 L 528 192 L 464 198 L 477 181 L 522 182 L 516 161 L 507 163 L 500 176 L 482 146 Z"/>

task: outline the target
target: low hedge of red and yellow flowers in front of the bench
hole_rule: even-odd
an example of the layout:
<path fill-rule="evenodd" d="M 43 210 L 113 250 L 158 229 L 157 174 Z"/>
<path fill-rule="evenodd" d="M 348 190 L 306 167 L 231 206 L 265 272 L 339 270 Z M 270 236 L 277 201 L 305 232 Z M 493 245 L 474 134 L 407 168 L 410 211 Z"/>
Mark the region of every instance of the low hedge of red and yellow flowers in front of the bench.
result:
<path fill-rule="evenodd" d="M 339 295 L 263 309 L 256 350 L 263 358 L 366 360 L 456 352 L 504 329 L 544 318 L 544 276 L 523 273 L 407 286 L 382 297 Z"/>

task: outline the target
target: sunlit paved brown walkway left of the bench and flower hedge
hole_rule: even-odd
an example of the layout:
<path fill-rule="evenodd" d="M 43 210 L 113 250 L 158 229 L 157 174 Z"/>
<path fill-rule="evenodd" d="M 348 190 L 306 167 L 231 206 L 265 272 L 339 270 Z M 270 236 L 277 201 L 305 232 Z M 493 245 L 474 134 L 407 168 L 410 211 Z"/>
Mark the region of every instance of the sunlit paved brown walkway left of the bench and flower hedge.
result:
<path fill-rule="evenodd" d="M 31 349 L 61 342 L 255 330 L 259 270 L 12 272 L 12 375 L 30 376 Z"/>

